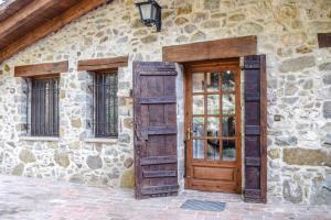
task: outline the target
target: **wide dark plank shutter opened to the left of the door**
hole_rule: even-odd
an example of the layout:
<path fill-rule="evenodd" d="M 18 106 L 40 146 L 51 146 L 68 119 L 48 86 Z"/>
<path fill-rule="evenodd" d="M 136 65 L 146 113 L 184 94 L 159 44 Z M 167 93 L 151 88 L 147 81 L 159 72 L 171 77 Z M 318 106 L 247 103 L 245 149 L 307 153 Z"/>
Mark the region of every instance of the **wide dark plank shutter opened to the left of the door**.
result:
<path fill-rule="evenodd" d="M 134 63 L 136 198 L 178 194 L 174 64 Z"/>

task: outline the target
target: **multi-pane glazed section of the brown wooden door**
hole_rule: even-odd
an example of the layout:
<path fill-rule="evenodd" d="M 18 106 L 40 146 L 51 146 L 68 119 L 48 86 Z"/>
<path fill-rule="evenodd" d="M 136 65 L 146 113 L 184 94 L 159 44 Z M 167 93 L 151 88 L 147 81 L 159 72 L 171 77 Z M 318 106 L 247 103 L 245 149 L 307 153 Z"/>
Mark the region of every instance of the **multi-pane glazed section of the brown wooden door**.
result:
<path fill-rule="evenodd" d="M 235 161 L 235 72 L 193 73 L 192 94 L 193 158 Z"/>

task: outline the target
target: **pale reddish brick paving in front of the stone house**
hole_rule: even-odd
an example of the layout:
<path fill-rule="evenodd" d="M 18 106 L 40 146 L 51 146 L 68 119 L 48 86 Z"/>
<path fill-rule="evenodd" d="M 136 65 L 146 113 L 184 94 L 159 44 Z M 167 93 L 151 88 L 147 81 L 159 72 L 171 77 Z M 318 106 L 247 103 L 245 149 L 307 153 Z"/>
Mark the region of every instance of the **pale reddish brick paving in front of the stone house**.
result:
<path fill-rule="evenodd" d="M 180 209 L 186 199 L 226 202 L 223 212 Z M 135 200 L 132 190 L 0 175 L 0 219 L 207 220 L 331 219 L 329 206 L 245 204 L 237 195 L 185 191 L 178 197 Z"/>

